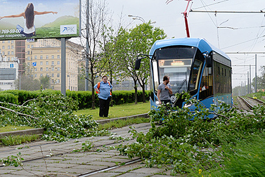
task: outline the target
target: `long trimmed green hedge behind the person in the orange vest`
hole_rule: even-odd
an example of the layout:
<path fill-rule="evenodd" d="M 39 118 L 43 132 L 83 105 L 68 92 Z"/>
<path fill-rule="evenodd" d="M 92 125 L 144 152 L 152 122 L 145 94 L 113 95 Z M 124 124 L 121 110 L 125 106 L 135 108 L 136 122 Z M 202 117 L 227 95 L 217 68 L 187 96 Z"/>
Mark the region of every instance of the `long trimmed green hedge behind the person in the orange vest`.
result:
<path fill-rule="evenodd" d="M 149 100 L 150 91 L 145 91 L 146 101 Z M 35 99 L 39 95 L 44 97 L 49 94 L 61 94 L 60 91 L 19 91 L 8 90 L 0 91 L 0 101 L 9 102 L 13 104 L 23 104 L 24 102 Z M 66 96 L 74 100 L 78 100 L 79 109 L 87 109 L 92 107 L 92 93 L 89 91 L 66 91 Z M 142 91 L 137 92 L 137 102 L 142 102 Z M 134 103 L 134 91 L 113 91 L 112 92 L 113 105 L 120 105 L 125 103 Z M 98 97 L 95 94 L 95 106 L 99 106 Z"/>

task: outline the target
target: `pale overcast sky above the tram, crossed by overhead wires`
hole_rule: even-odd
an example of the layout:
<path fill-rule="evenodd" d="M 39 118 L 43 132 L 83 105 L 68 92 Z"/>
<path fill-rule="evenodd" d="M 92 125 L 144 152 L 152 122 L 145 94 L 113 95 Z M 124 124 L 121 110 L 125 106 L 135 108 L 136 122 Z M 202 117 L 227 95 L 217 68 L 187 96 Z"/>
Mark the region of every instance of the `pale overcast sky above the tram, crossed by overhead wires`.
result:
<path fill-rule="evenodd" d="M 155 22 L 154 27 L 164 29 L 168 38 L 186 37 L 183 12 L 187 1 L 174 0 L 109 0 L 114 24 L 122 16 L 123 26 L 135 27 L 142 23 L 128 15 L 139 16 L 145 22 Z M 265 0 L 193 0 L 188 24 L 190 37 L 205 38 L 224 52 L 263 52 L 257 54 L 257 75 L 265 66 L 265 13 L 207 13 L 209 11 L 265 12 Z M 232 86 L 247 84 L 255 76 L 255 54 L 228 54 L 232 60 Z M 237 66 L 235 66 L 237 65 Z M 241 66 L 238 66 L 241 65 Z M 251 65 L 251 66 L 249 66 Z M 253 65 L 253 66 L 252 66 Z"/>

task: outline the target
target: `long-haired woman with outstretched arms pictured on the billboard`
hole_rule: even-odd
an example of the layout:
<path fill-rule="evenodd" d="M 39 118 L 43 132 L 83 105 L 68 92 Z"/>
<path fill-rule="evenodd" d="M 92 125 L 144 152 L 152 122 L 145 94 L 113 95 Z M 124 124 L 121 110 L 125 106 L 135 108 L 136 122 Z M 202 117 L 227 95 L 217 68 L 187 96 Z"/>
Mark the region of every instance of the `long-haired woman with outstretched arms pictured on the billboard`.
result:
<path fill-rule="evenodd" d="M 24 17 L 25 27 L 21 27 L 20 25 L 17 25 L 17 29 L 20 30 L 21 34 L 24 34 L 26 37 L 32 37 L 35 35 L 35 26 L 34 26 L 34 17 L 35 15 L 43 15 L 43 14 L 58 14 L 58 12 L 52 12 L 52 11 L 44 11 L 44 12 L 38 12 L 34 11 L 34 6 L 32 3 L 29 3 L 25 12 L 22 12 L 18 15 L 9 15 L 0 17 L 0 20 L 3 18 L 16 18 L 16 17 Z"/>

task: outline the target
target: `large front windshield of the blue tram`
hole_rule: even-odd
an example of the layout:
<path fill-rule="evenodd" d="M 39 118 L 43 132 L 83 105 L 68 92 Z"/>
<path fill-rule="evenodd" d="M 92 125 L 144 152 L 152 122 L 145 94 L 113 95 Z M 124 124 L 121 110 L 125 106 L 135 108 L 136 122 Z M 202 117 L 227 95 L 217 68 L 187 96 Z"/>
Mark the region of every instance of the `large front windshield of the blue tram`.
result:
<path fill-rule="evenodd" d="M 164 75 L 170 77 L 173 94 L 187 92 L 192 59 L 196 49 L 193 47 L 170 47 L 156 51 L 158 77 L 160 82 Z M 157 90 L 156 84 L 155 90 Z"/>

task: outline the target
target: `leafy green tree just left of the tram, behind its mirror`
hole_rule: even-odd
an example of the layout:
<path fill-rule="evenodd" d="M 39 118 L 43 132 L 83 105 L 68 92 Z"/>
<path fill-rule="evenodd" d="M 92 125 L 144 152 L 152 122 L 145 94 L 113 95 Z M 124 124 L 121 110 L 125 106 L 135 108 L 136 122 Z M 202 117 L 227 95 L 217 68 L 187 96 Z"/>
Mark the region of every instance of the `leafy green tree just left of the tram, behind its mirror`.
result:
<path fill-rule="evenodd" d="M 148 54 L 154 41 L 163 39 L 167 35 L 164 30 L 154 28 L 151 21 L 137 25 L 135 28 L 126 31 L 121 29 L 119 37 L 119 57 L 120 57 L 120 70 L 124 77 L 131 77 L 134 81 L 135 90 L 135 104 L 137 104 L 137 82 L 142 88 L 143 102 L 145 102 L 145 84 L 149 78 L 149 59 L 142 60 L 140 70 L 134 69 L 135 60 L 139 54 Z M 126 69 L 124 69 L 126 68 Z"/>

